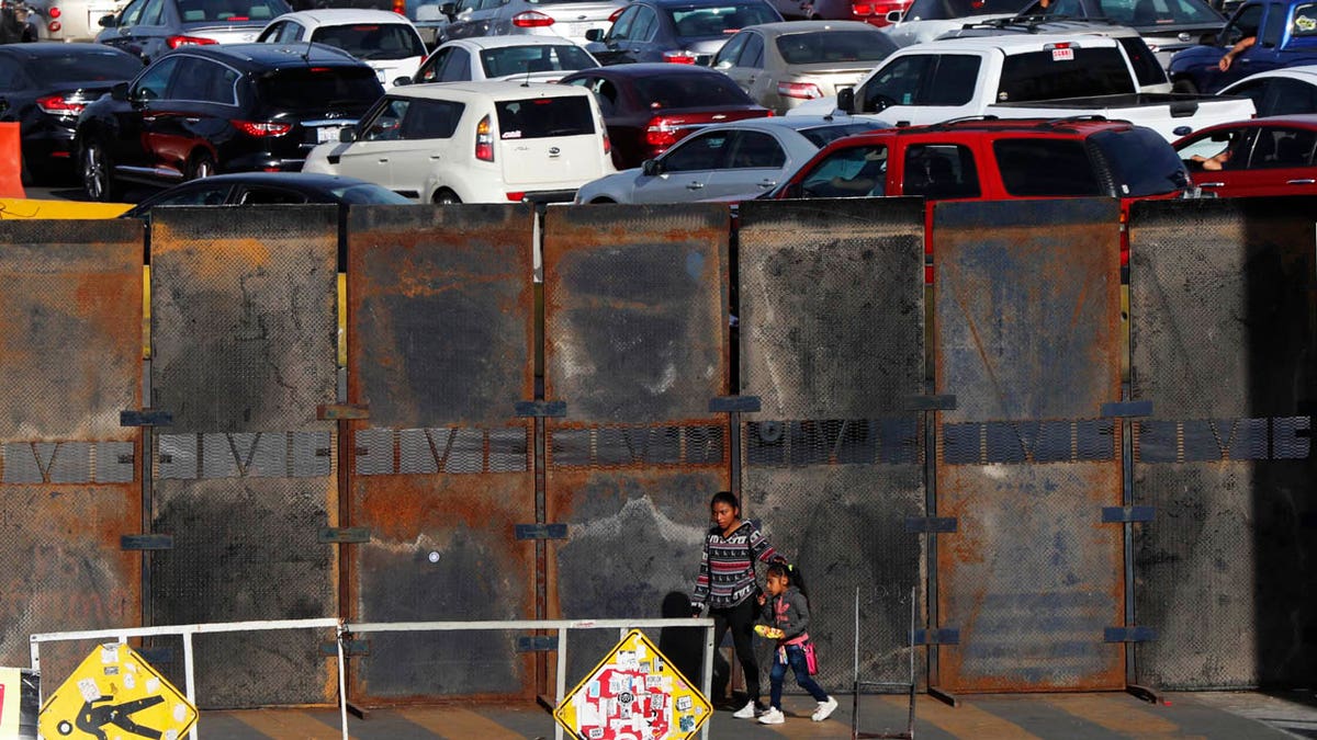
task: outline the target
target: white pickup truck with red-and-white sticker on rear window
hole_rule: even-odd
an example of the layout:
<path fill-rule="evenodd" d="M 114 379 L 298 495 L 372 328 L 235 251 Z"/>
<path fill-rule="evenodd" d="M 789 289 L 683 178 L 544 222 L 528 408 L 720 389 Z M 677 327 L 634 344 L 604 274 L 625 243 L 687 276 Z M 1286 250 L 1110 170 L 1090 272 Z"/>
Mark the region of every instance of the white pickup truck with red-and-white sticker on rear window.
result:
<path fill-rule="evenodd" d="M 1112 38 L 951 38 L 901 49 L 853 90 L 809 100 L 788 115 L 840 109 L 885 124 L 913 125 L 968 116 L 1102 116 L 1147 126 L 1167 141 L 1254 115 L 1246 97 L 1137 90 L 1134 68 Z"/>

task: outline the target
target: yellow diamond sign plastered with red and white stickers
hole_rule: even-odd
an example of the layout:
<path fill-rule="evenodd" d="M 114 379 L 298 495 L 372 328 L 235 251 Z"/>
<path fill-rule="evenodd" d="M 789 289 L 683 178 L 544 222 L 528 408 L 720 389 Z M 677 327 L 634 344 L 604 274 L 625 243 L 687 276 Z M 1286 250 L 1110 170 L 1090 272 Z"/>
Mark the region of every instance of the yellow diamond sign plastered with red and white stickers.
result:
<path fill-rule="evenodd" d="M 639 629 L 594 666 L 553 712 L 579 740 L 685 739 L 712 707 Z"/>

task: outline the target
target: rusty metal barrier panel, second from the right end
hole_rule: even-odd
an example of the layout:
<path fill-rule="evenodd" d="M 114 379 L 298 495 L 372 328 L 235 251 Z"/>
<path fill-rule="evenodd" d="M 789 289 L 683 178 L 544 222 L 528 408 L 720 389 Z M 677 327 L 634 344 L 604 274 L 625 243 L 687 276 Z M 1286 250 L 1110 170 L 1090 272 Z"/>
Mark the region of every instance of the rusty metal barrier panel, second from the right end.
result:
<path fill-rule="evenodd" d="M 1114 200 L 939 203 L 939 648 L 954 691 L 1125 685 Z"/>

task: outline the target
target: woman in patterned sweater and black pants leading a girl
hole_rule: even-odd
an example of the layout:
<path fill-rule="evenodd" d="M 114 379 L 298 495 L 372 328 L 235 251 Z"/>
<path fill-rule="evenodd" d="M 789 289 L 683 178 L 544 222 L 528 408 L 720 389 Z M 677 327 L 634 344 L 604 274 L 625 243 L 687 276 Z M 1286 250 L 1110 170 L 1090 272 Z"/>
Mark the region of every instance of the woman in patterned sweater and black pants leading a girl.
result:
<path fill-rule="evenodd" d="M 755 660 L 755 621 L 759 616 L 759 582 L 755 579 L 755 561 L 781 560 L 759 527 L 740 517 L 740 502 L 731 491 L 714 494 L 709 503 L 712 528 L 705 537 L 705 553 L 699 561 L 699 577 L 691 596 L 695 616 L 709 604 L 714 618 L 714 645 L 720 645 L 727 631 L 732 632 L 736 660 L 745 672 L 747 703 L 732 716 L 753 719 L 766 711 L 759 697 L 759 662 Z M 727 686 L 726 677 L 715 677 L 714 695 L 720 695 L 719 685 Z"/>

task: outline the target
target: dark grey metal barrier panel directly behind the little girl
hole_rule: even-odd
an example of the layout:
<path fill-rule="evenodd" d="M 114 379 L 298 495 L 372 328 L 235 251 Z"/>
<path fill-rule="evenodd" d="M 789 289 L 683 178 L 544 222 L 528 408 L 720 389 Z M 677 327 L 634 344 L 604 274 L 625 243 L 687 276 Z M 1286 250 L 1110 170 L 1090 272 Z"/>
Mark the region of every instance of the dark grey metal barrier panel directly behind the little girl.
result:
<path fill-rule="evenodd" d="M 801 566 L 820 683 L 849 686 L 856 639 L 861 679 L 906 681 L 911 587 L 925 627 L 923 201 L 745 203 L 738 265 L 740 395 L 761 403 L 740 427 L 748 514 Z"/>

